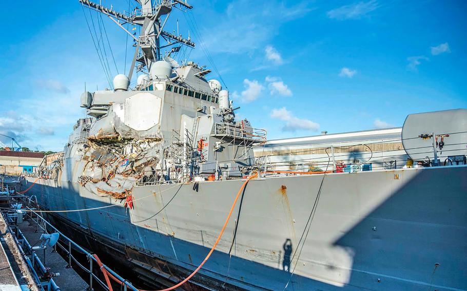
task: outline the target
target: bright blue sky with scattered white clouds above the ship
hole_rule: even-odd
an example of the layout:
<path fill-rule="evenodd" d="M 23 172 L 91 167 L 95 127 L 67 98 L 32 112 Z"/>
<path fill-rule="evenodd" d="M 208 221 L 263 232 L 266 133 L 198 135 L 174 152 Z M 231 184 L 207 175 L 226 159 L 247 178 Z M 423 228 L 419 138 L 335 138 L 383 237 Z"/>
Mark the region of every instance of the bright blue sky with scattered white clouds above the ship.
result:
<path fill-rule="evenodd" d="M 238 117 L 267 129 L 269 139 L 402 126 L 410 113 L 467 108 L 464 1 L 188 2 L 202 39 L 179 11 L 166 29 L 179 19 L 180 33 L 190 30 L 197 43 L 190 59 L 212 68 L 207 49 Z M 0 133 L 23 147 L 61 150 L 85 115 L 85 82 L 89 91 L 108 83 L 77 1 L 27 9 L 34 13 L 21 20 L 6 13 L 0 32 Z M 112 75 L 124 72 L 125 51 L 128 73 L 132 41 L 102 20 Z"/>

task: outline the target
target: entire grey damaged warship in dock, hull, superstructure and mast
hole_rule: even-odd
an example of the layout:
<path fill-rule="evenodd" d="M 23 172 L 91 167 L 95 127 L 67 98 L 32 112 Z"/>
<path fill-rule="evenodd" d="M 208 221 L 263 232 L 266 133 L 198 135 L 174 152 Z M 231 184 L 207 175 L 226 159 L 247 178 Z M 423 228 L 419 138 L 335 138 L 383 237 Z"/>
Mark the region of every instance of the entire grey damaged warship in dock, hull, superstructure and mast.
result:
<path fill-rule="evenodd" d="M 467 289 L 459 271 L 467 269 L 467 110 L 409 115 L 405 169 L 340 173 L 325 147 L 313 149 L 327 157 L 319 168 L 276 171 L 252 151 L 266 132 L 236 120 L 208 69 L 175 60 L 174 46 L 195 44 L 163 29 L 189 4 L 139 0 L 119 13 L 80 2 L 133 37 L 135 54 L 112 89 L 82 94 L 88 117 L 63 155 L 27 177 L 27 194 L 65 235 L 146 289 L 186 278 L 221 229 L 183 288 Z M 131 88 L 134 68 L 141 74 Z M 222 227 L 237 192 L 235 218 Z"/>

